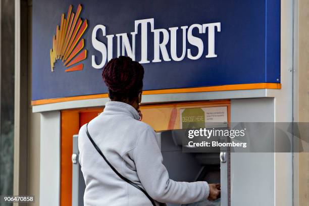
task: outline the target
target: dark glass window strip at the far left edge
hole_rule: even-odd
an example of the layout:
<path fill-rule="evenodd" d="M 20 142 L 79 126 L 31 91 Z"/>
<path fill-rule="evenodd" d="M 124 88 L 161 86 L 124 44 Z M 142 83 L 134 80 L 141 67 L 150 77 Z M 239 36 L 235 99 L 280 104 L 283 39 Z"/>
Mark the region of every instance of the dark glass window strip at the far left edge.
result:
<path fill-rule="evenodd" d="M 0 195 L 13 194 L 14 10 L 14 1 L 1 1 Z"/>

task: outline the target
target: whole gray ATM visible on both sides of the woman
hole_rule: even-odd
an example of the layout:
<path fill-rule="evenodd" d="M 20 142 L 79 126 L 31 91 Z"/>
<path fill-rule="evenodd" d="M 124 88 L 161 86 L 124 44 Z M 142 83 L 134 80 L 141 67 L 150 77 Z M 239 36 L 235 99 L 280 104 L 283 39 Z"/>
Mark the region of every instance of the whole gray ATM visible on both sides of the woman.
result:
<path fill-rule="evenodd" d="M 219 148 L 216 151 L 183 152 L 183 137 L 186 130 L 167 130 L 157 133 L 157 140 L 161 146 L 163 163 L 170 178 L 175 181 L 207 181 L 208 183 L 221 183 L 221 197 L 216 201 L 203 201 L 186 206 L 229 206 L 229 152 Z M 193 148 L 194 149 L 194 148 Z M 72 206 L 83 205 L 85 183 L 78 162 L 78 135 L 73 136 L 72 154 Z M 181 206 L 167 203 L 168 206 Z"/>

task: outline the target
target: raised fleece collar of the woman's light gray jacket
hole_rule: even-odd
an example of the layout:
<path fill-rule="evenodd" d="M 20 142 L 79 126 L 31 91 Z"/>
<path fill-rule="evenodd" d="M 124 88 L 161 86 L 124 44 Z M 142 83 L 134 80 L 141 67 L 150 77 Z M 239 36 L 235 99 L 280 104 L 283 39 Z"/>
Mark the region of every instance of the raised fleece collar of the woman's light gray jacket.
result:
<path fill-rule="evenodd" d="M 123 112 L 131 116 L 132 118 L 139 120 L 138 112 L 131 106 L 121 101 L 108 101 L 105 104 L 104 111 L 109 112 Z"/>

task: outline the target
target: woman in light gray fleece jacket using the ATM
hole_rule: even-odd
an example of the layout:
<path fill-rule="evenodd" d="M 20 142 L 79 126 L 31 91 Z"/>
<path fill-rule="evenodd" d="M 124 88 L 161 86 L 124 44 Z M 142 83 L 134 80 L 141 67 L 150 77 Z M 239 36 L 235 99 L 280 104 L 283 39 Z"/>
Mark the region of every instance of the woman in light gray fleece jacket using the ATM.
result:
<path fill-rule="evenodd" d="M 145 206 L 217 199 L 219 184 L 169 179 L 155 131 L 140 121 L 143 75 L 143 67 L 129 57 L 112 59 L 102 72 L 110 101 L 79 131 L 84 204 Z"/>

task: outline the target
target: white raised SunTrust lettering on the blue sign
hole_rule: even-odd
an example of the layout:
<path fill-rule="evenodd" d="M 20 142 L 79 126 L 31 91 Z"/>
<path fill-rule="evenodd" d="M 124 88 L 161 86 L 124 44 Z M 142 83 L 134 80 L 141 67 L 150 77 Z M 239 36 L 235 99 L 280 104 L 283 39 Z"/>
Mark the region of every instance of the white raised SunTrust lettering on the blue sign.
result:
<path fill-rule="evenodd" d="M 141 33 L 141 58 L 140 60 L 135 59 L 136 52 L 136 34 L 138 34 L 138 26 L 140 25 L 140 33 Z M 199 59 L 204 51 L 204 45 L 201 38 L 196 37 L 192 34 L 192 30 L 196 28 L 198 29 L 198 33 L 204 34 L 206 33 L 206 29 L 208 29 L 208 54 L 205 58 L 213 58 L 217 57 L 215 54 L 215 32 L 221 31 L 220 22 L 216 23 L 208 23 L 208 24 L 192 24 L 190 26 L 181 26 L 179 27 L 171 27 L 169 29 L 155 29 L 155 20 L 152 19 L 142 19 L 136 20 L 134 22 L 134 32 L 131 32 L 132 44 L 129 41 L 128 33 L 120 33 L 120 34 L 109 34 L 107 35 L 106 26 L 104 25 L 96 25 L 92 30 L 92 45 L 98 50 L 102 55 L 102 60 L 98 64 L 95 61 L 95 56 L 92 55 L 91 65 L 95 69 L 101 69 L 106 61 L 110 61 L 113 59 L 113 38 L 117 37 L 117 57 L 129 56 L 134 61 L 139 61 L 140 64 L 150 63 L 148 60 L 148 36 L 147 31 L 150 30 L 153 33 L 153 59 L 152 63 L 162 62 L 162 61 L 182 61 L 185 57 L 191 60 Z M 107 45 L 102 43 L 96 38 L 98 30 L 101 30 L 103 36 L 107 38 Z M 177 31 L 182 33 L 181 41 L 177 41 Z M 162 37 L 160 37 L 162 36 Z M 189 44 L 196 46 L 198 49 L 197 54 L 192 55 L 191 49 L 186 49 L 186 42 Z M 182 52 L 181 55 L 177 55 L 177 42 L 182 42 Z M 170 50 L 167 49 L 167 44 L 170 44 Z M 121 46 L 120 46 L 121 45 Z M 178 45 L 179 46 L 179 45 Z M 162 55 L 162 58 L 160 57 Z"/>

